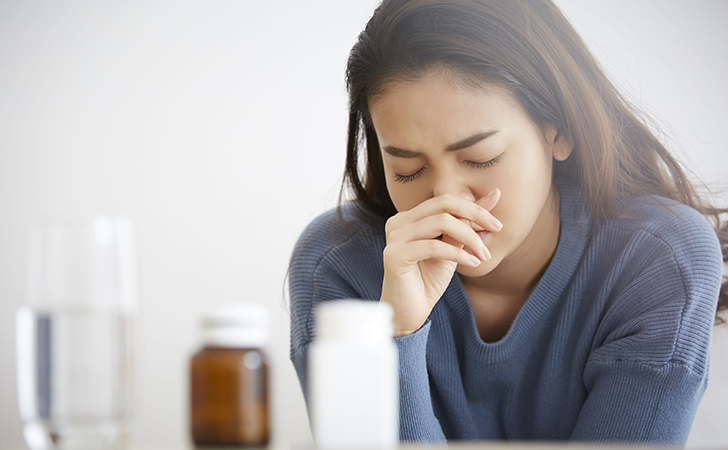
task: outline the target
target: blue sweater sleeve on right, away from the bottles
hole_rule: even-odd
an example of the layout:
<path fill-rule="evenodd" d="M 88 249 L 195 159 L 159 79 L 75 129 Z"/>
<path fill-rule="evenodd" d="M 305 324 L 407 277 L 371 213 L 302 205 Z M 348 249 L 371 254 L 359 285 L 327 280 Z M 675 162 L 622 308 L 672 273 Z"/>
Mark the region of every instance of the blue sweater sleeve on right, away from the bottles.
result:
<path fill-rule="evenodd" d="M 685 445 L 707 386 L 722 255 L 702 217 L 628 249 L 584 371 L 572 439 Z"/>

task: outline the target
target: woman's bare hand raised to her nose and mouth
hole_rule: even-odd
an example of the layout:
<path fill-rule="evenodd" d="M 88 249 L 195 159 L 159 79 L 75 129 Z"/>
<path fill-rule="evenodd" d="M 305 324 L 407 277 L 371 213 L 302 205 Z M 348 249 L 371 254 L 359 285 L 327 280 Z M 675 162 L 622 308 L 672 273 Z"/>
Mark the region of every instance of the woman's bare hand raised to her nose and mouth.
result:
<path fill-rule="evenodd" d="M 475 202 L 441 195 L 387 221 L 380 300 L 394 310 L 395 336 L 422 326 L 458 264 L 477 267 L 491 259 L 481 234 L 503 226 L 490 213 L 500 195 L 494 189 Z"/>

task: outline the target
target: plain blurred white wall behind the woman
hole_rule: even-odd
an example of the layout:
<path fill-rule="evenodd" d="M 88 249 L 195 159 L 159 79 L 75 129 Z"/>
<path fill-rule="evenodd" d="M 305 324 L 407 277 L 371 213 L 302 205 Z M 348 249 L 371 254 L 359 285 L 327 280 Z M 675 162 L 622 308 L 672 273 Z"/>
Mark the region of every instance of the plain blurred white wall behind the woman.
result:
<path fill-rule="evenodd" d="M 728 3 L 557 2 L 618 84 L 667 125 L 683 159 L 722 182 Z M 288 361 L 284 275 L 303 227 L 335 205 L 344 66 L 374 5 L 0 1 L 0 446 L 22 442 L 14 311 L 25 293 L 28 224 L 98 212 L 131 216 L 138 233 L 134 442 L 188 442 L 198 314 L 241 301 L 274 312 L 274 439 L 310 442 Z M 728 446 L 725 327 L 690 440 L 719 445 Z"/>

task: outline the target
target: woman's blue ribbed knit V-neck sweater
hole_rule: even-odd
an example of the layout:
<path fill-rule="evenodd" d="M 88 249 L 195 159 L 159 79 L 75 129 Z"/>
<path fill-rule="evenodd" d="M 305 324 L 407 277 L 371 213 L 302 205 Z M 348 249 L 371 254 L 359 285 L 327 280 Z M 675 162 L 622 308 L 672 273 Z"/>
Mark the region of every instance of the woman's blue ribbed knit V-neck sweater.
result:
<path fill-rule="evenodd" d="M 425 325 L 395 339 L 403 441 L 684 445 L 707 385 L 716 235 L 659 197 L 595 224 L 579 192 L 559 190 L 556 253 L 503 339 L 481 340 L 457 274 Z M 291 359 L 304 395 L 315 306 L 381 294 L 383 220 L 354 204 L 341 216 L 320 216 L 294 250 Z"/>

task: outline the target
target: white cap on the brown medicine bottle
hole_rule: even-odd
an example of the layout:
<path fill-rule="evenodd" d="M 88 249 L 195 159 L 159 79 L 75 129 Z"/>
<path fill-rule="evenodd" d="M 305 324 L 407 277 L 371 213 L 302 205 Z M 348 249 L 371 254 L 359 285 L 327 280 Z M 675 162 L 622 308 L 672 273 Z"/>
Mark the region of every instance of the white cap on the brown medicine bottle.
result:
<path fill-rule="evenodd" d="M 268 309 L 254 303 L 214 308 L 202 317 L 202 340 L 214 347 L 262 347 L 268 342 Z"/>

